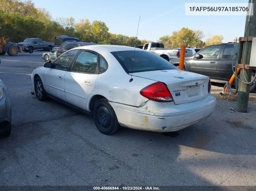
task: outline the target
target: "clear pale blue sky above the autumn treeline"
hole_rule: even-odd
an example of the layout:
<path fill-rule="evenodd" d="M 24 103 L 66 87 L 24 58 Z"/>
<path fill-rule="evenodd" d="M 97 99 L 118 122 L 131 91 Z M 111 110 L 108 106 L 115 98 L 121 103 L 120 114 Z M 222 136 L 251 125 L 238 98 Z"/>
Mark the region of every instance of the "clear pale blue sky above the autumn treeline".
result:
<path fill-rule="evenodd" d="M 248 0 L 32 0 L 56 17 L 88 18 L 106 23 L 109 32 L 158 40 L 188 27 L 202 30 L 205 38 L 223 35 L 223 42 L 244 36 L 246 16 L 185 16 L 185 3 L 248 3 Z"/>

